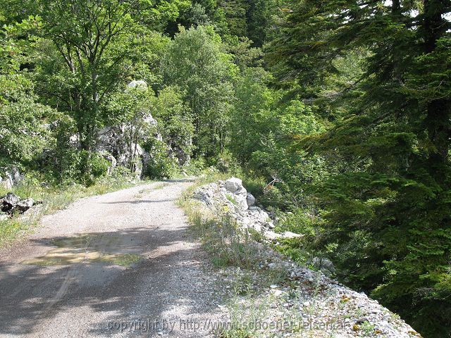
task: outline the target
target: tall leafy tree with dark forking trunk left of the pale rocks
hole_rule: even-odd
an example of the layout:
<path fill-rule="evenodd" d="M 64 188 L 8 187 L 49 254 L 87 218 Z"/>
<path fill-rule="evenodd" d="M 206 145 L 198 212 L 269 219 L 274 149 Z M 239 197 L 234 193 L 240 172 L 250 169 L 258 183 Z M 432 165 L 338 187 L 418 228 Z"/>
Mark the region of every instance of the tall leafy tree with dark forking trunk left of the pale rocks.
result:
<path fill-rule="evenodd" d="M 124 36 L 135 27 L 130 4 L 116 0 L 39 4 L 45 37 L 54 43 L 68 70 L 68 111 L 77 123 L 82 149 L 91 151 L 101 105 L 121 81 L 122 63 L 128 56 Z"/>

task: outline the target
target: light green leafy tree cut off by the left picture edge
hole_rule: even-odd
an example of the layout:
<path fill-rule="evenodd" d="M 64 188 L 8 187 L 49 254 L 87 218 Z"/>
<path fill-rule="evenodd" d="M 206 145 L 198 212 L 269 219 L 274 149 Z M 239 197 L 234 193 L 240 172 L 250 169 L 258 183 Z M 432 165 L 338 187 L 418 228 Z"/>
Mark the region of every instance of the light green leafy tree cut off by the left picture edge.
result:
<path fill-rule="evenodd" d="M 30 61 L 42 28 L 39 17 L 30 16 L 0 30 L 0 162 L 35 169 L 44 149 L 54 146 L 49 123 L 58 115 L 36 102 L 33 83 L 22 65 Z"/>

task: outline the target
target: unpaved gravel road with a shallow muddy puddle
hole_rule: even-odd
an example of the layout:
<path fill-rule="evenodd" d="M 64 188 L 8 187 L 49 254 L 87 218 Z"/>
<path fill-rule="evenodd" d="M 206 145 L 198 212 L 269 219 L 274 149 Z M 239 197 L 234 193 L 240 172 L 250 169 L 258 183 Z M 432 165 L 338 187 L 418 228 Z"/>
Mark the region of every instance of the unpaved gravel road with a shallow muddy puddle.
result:
<path fill-rule="evenodd" d="M 190 184 L 81 199 L 0 251 L 0 337 L 211 336 L 225 315 L 175 205 Z"/>

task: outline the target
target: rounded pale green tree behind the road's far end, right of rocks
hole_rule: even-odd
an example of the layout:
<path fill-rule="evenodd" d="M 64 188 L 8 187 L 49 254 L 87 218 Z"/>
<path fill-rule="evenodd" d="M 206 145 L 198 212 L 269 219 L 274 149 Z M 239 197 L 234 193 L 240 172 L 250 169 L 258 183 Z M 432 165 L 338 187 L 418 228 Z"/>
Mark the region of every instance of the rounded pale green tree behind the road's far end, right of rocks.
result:
<path fill-rule="evenodd" d="M 163 82 L 179 87 L 192 111 L 197 156 L 214 157 L 226 142 L 236 70 L 221 49 L 211 28 L 192 27 L 175 35 L 161 62 Z"/>

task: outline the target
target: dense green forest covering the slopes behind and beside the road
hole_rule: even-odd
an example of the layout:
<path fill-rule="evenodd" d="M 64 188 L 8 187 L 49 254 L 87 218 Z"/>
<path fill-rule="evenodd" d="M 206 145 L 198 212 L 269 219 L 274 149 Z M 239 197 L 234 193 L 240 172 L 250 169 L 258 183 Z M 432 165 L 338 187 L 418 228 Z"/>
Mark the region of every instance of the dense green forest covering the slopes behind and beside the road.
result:
<path fill-rule="evenodd" d="M 2 0 L 0 167 L 52 189 L 240 173 L 303 235 L 284 253 L 327 258 L 424 337 L 450 337 L 450 12 Z"/>

